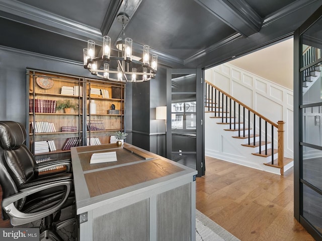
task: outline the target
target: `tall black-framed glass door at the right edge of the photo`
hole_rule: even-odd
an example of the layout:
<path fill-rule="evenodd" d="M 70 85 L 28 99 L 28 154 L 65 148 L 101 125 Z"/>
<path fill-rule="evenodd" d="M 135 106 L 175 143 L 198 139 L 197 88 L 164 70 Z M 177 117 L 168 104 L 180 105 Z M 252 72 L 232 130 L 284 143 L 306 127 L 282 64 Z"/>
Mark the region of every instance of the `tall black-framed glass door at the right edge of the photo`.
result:
<path fill-rule="evenodd" d="M 294 33 L 294 216 L 322 240 L 322 7 Z"/>

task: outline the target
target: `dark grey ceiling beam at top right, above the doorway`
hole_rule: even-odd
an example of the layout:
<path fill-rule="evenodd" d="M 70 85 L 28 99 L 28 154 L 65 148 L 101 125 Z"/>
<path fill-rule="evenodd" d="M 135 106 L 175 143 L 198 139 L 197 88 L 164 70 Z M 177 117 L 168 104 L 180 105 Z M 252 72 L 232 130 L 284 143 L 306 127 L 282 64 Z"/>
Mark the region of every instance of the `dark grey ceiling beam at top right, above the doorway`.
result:
<path fill-rule="evenodd" d="M 195 2 L 244 37 L 261 30 L 262 18 L 245 0 L 195 0 Z"/>

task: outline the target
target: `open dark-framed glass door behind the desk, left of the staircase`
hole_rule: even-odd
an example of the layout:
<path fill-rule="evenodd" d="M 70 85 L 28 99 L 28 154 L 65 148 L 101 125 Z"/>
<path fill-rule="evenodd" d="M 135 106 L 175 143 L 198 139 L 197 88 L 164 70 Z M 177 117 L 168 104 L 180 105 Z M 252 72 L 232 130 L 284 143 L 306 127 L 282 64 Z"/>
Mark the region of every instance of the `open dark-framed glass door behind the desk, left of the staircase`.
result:
<path fill-rule="evenodd" d="M 204 175 L 201 69 L 167 71 L 167 157 Z"/>

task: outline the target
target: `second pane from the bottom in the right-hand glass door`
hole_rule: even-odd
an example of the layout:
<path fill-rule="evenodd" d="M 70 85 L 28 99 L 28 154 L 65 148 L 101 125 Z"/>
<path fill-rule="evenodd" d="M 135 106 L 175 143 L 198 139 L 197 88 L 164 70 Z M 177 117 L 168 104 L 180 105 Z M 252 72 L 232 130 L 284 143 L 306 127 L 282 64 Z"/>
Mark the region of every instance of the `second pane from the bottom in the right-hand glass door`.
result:
<path fill-rule="evenodd" d="M 322 190 L 322 151 L 303 147 L 303 180 Z"/>

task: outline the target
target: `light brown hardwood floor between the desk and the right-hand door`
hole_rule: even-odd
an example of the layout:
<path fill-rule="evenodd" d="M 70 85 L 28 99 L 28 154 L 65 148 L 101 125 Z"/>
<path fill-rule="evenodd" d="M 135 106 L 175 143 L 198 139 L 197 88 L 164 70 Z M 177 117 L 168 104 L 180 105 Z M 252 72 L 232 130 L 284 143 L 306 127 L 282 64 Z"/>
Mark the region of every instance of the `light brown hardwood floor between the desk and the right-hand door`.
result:
<path fill-rule="evenodd" d="M 293 217 L 293 168 L 284 176 L 206 157 L 196 208 L 242 241 L 311 241 Z"/>

